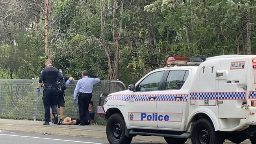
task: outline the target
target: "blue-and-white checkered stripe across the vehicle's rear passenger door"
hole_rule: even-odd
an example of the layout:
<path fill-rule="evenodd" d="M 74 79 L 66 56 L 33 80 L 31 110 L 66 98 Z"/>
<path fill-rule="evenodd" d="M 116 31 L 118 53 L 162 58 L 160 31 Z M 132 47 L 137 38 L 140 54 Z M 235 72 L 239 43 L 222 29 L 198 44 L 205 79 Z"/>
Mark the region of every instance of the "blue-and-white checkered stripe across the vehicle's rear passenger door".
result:
<path fill-rule="evenodd" d="M 182 97 L 177 99 L 176 97 Z M 187 101 L 187 94 L 161 94 L 156 97 L 156 101 Z"/>

